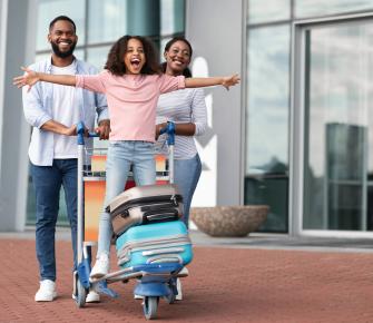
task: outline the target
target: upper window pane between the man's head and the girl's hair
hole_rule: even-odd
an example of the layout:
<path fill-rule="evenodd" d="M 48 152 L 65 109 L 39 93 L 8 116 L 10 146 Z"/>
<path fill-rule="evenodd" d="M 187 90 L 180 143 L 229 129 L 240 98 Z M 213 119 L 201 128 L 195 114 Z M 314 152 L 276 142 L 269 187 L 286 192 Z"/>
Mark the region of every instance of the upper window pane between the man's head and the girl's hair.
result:
<path fill-rule="evenodd" d="M 127 0 L 89 1 L 89 43 L 115 41 L 126 33 Z"/>

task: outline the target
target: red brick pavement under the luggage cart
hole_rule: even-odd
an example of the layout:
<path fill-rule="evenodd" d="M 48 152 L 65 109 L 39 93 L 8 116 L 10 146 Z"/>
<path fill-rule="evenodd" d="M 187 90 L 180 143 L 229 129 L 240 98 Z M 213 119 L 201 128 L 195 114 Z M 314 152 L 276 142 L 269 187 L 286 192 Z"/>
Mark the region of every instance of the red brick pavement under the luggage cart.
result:
<path fill-rule="evenodd" d="M 35 241 L 0 239 L 0 322 L 145 322 L 134 284 L 120 297 L 78 309 L 71 252 L 57 242 L 58 293 L 36 303 Z M 373 322 L 373 254 L 195 247 L 185 300 L 160 301 L 157 322 Z"/>

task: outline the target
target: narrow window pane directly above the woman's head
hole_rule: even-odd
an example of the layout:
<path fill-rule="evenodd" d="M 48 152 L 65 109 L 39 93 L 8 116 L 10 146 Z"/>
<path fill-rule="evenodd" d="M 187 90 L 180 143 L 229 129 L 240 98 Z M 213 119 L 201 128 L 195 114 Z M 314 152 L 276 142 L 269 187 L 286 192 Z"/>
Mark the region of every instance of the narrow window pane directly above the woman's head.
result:
<path fill-rule="evenodd" d="M 160 35 L 171 35 L 184 32 L 185 17 L 184 0 L 161 0 L 160 1 Z"/>

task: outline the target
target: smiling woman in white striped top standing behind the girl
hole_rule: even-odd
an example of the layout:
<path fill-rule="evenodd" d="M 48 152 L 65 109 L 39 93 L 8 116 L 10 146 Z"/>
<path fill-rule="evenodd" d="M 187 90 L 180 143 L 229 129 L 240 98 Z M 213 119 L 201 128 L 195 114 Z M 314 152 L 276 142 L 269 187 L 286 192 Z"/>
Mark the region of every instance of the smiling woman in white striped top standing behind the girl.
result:
<path fill-rule="evenodd" d="M 193 49 L 185 38 L 176 37 L 166 43 L 161 69 L 169 76 L 192 77 L 188 68 Z M 190 203 L 196 189 L 202 164 L 194 136 L 203 135 L 207 127 L 207 109 L 202 89 L 187 88 L 164 94 L 157 105 L 157 134 L 167 120 L 175 123 L 175 184 L 184 200 L 183 221 L 188 227 Z M 158 139 L 158 149 L 165 153 L 165 137 Z M 160 148 L 159 148 L 160 147 Z"/>

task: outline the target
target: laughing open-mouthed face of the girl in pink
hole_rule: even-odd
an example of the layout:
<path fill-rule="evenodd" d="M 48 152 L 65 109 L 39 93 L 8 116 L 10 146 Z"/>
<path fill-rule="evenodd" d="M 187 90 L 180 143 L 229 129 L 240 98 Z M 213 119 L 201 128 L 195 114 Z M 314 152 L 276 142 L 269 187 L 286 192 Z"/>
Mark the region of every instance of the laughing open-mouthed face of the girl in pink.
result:
<path fill-rule="evenodd" d="M 146 57 L 143 42 L 136 38 L 131 38 L 127 42 L 127 50 L 124 57 L 126 74 L 140 74 Z"/>

